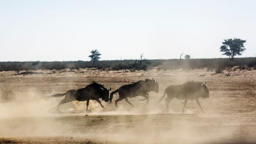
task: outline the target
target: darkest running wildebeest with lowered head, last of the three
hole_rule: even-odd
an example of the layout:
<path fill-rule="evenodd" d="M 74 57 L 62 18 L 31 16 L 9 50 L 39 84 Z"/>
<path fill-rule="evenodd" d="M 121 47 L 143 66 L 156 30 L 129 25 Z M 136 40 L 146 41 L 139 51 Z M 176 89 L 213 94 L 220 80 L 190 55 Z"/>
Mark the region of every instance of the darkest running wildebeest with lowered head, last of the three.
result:
<path fill-rule="evenodd" d="M 85 88 L 80 88 L 78 90 L 68 90 L 66 93 L 58 93 L 55 95 L 52 95 L 54 97 L 63 96 L 66 95 L 61 102 L 56 106 L 58 110 L 60 105 L 65 104 L 67 102 L 72 102 L 74 100 L 78 101 L 86 101 L 86 111 L 88 111 L 88 105 L 90 100 L 96 100 L 100 103 L 100 98 L 102 100 L 105 100 L 105 102 L 108 102 L 109 100 L 109 91 L 107 88 L 105 88 L 101 84 L 97 84 L 95 81 L 93 81 L 92 84 L 86 86 Z M 100 103 L 100 106 L 104 108 L 104 106 Z M 56 108 L 54 107 L 54 109 Z"/>

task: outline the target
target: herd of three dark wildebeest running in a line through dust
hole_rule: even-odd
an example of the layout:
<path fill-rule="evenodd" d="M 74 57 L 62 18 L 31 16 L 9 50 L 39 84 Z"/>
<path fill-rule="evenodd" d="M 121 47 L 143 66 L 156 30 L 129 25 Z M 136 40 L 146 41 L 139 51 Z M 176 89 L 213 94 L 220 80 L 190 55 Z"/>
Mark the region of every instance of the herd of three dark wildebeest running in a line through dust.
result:
<path fill-rule="evenodd" d="M 92 84 L 86 86 L 85 88 L 80 88 L 78 90 L 68 90 L 66 93 L 58 93 L 55 95 L 52 95 L 54 97 L 63 96 L 65 95 L 65 98 L 59 102 L 59 104 L 54 108 L 56 110 L 59 109 L 60 105 L 72 102 L 74 100 L 77 101 L 86 101 L 86 110 L 88 110 L 88 105 L 90 100 L 96 100 L 102 108 L 104 106 L 100 102 L 100 98 L 102 100 L 105 100 L 105 102 L 112 103 L 113 95 L 114 93 L 119 93 L 119 98 L 115 100 L 115 106 L 117 107 L 117 102 L 125 99 L 125 101 L 133 106 L 132 103 L 128 101 L 128 98 L 133 98 L 136 96 L 143 96 L 144 99 L 147 100 L 147 103 L 149 102 L 149 92 L 154 91 L 158 93 L 159 86 L 156 79 L 145 79 L 144 81 L 140 80 L 137 82 L 134 82 L 133 84 L 127 84 L 124 86 L 119 87 L 117 90 L 110 93 L 109 97 L 109 91 L 110 89 L 107 89 L 102 84 L 98 84 L 95 81 L 93 81 Z M 182 109 L 182 112 L 184 113 L 184 108 L 186 106 L 186 103 L 188 100 L 196 100 L 198 106 L 200 109 L 205 112 L 198 100 L 198 98 L 209 98 L 209 90 L 206 86 L 206 84 L 198 81 L 190 81 L 186 82 L 181 85 L 172 85 L 168 86 L 165 89 L 164 95 L 160 98 L 159 102 L 163 100 L 165 97 L 165 94 L 167 94 L 167 98 L 165 98 L 165 104 L 166 104 L 166 111 L 169 110 L 169 103 L 173 98 L 177 98 L 179 100 L 185 100 L 184 107 Z M 133 106 L 134 107 L 134 106 Z"/>

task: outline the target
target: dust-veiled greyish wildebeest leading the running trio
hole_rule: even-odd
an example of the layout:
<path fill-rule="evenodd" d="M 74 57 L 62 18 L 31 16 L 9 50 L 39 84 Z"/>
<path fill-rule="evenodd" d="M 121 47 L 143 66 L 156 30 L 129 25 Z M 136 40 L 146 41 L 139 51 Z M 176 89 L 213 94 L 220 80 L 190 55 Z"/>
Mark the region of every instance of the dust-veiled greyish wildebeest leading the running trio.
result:
<path fill-rule="evenodd" d="M 169 103 L 173 98 L 177 98 L 179 100 L 185 100 L 184 107 L 182 109 L 182 112 L 184 113 L 184 108 L 187 104 L 188 100 L 196 100 L 198 106 L 201 108 L 201 110 L 205 113 L 205 111 L 202 109 L 200 102 L 198 98 L 209 98 L 209 90 L 207 86 L 201 82 L 197 81 L 191 81 L 186 82 L 185 84 L 180 85 L 174 85 L 174 86 L 168 86 L 165 89 L 165 93 L 167 93 L 167 98 L 165 99 L 166 104 L 166 111 L 169 110 Z M 159 102 L 163 100 L 165 94 L 160 98 Z"/>

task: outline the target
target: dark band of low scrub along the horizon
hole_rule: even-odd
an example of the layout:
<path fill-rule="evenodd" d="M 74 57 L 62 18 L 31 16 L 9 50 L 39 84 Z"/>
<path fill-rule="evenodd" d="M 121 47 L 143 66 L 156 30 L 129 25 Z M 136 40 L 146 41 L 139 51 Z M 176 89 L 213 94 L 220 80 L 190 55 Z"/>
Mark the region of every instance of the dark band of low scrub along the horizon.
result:
<path fill-rule="evenodd" d="M 235 58 L 233 61 L 228 58 L 211 59 L 169 59 L 169 60 L 100 60 L 95 62 L 95 68 L 101 70 L 148 70 L 151 67 L 158 67 L 158 70 L 175 69 L 225 69 L 228 67 L 239 66 L 242 68 L 256 69 L 256 58 Z M 61 70 L 61 69 L 79 69 L 91 68 L 91 61 L 54 61 L 54 62 L 0 62 L 0 71 L 10 70 Z"/>

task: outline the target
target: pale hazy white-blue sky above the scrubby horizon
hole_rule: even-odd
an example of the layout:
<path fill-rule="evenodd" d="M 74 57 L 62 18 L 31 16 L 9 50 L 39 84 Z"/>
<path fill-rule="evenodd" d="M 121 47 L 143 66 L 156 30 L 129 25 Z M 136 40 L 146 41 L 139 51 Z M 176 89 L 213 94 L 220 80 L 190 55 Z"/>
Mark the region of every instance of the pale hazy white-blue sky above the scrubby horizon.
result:
<path fill-rule="evenodd" d="M 0 61 L 224 58 L 256 53 L 256 0 L 0 0 Z"/>

